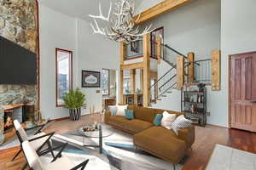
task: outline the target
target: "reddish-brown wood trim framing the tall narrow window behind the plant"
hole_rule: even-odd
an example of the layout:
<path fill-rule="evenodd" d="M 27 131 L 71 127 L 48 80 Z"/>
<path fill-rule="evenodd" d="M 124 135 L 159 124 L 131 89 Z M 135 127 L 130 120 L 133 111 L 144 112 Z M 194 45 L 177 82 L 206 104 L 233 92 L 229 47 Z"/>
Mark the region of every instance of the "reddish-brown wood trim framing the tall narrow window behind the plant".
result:
<path fill-rule="evenodd" d="M 69 57 L 69 85 L 70 89 L 73 89 L 73 51 L 55 48 L 55 107 L 64 107 L 66 105 L 58 104 L 58 52 L 67 52 L 70 54 Z"/>

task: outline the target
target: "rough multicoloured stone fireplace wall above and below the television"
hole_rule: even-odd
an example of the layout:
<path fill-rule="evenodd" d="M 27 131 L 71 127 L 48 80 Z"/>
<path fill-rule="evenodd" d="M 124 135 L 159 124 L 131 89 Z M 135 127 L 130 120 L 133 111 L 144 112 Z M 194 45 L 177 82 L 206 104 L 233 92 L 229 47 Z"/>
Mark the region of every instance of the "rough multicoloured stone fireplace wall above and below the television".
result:
<path fill-rule="evenodd" d="M 0 35 L 34 53 L 38 52 L 37 18 L 36 0 L 0 0 Z M 0 85 L 0 105 L 25 101 L 38 105 L 37 85 Z"/>

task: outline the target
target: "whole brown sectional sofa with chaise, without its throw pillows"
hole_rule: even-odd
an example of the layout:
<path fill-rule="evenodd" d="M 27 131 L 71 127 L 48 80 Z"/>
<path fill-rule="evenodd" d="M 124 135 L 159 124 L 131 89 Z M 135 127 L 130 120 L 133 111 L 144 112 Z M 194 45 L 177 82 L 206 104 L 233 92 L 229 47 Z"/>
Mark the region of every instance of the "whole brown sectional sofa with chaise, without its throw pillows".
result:
<path fill-rule="evenodd" d="M 195 127 L 183 128 L 176 135 L 172 130 L 154 126 L 154 116 L 165 110 L 151 109 L 129 105 L 134 111 L 135 119 L 127 120 L 123 116 L 105 114 L 105 123 L 115 128 L 133 134 L 134 144 L 149 153 L 159 156 L 166 161 L 178 163 L 195 141 Z M 168 111 L 181 115 L 181 112 Z"/>

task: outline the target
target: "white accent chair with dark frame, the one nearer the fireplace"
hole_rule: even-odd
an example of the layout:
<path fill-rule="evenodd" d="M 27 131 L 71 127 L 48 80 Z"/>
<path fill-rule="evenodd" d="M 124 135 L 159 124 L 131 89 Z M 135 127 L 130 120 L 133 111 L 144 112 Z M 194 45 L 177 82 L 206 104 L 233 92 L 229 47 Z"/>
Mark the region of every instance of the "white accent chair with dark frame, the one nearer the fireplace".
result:
<path fill-rule="evenodd" d="M 39 156 L 43 156 L 44 154 L 46 154 L 46 152 L 48 153 L 49 150 L 52 150 L 50 138 L 54 135 L 54 133 L 46 134 L 44 132 L 38 132 L 38 133 L 35 133 L 35 135 L 28 137 L 26 135 L 24 128 L 21 126 L 18 120 L 14 121 L 14 125 L 15 125 L 16 134 L 18 136 L 18 139 L 20 140 L 20 146 L 22 142 L 28 140 L 31 143 L 32 148 L 34 150 L 37 150 L 37 153 Z M 12 161 L 14 161 L 17 156 L 19 156 L 21 150 L 22 150 L 22 147 L 17 152 L 17 154 L 15 155 Z M 50 151 L 50 153 L 53 157 L 55 157 L 53 151 Z"/>

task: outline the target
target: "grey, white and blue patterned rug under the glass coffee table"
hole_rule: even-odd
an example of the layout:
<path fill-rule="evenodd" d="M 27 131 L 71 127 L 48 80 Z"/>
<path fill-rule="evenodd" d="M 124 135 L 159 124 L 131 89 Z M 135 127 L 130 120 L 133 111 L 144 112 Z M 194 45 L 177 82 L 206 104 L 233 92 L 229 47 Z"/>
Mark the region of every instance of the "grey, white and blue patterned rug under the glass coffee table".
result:
<path fill-rule="evenodd" d="M 107 125 L 105 125 L 107 126 Z M 75 132 L 55 134 L 55 140 L 67 141 L 73 147 L 85 151 L 90 156 L 96 156 L 109 164 L 107 169 L 119 170 L 172 170 L 173 165 L 143 150 L 137 150 L 132 142 L 132 136 L 117 129 L 113 135 L 103 138 L 103 155 L 98 149 L 84 147 L 83 144 L 98 144 L 97 138 L 83 138 L 73 135 Z M 176 170 L 181 170 L 182 164 L 176 165 Z"/>

